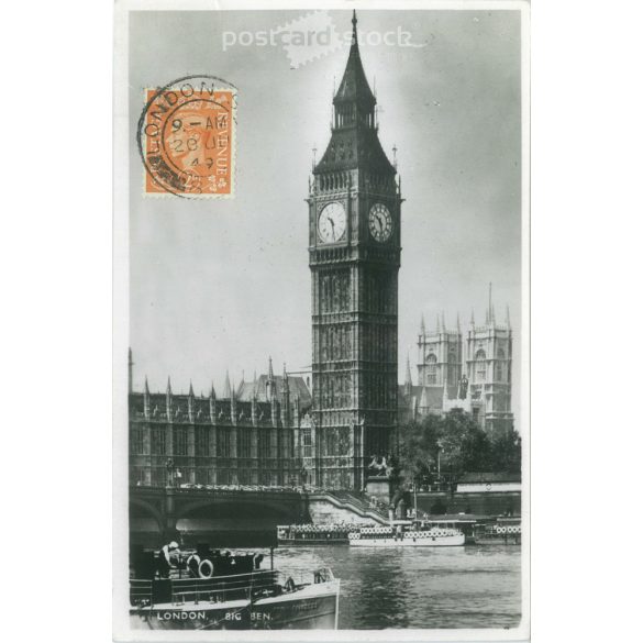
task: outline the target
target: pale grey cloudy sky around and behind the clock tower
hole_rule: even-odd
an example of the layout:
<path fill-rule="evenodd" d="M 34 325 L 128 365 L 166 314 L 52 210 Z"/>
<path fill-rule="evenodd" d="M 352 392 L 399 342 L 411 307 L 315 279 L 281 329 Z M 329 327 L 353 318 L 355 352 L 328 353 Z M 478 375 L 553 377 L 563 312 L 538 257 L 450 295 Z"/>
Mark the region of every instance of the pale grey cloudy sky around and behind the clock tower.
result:
<path fill-rule="evenodd" d="M 351 12 L 329 12 L 337 31 Z M 281 46 L 222 51 L 222 33 L 278 27 L 304 12 L 131 13 L 131 346 L 135 388 L 171 376 L 176 392 L 220 388 L 230 369 L 310 365 L 308 192 L 311 148 L 330 137 L 333 77 L 348 47 L 291 68 Z M 379 135 L 402 178 L 399 370 L 415 362 L 421 312 L 463 329 L 511 310 L 519 384 L 520 14 L 517 11 L 361 11 L 358 30 L 398 26 L 423 47 L 361 47 L 376 77 Z M 235 85 L 236 196 L 143 198 L 135 145 L 143 88 L 208 74 Z M 413 368 L 413 377 L 417 372 Z M 514 388 L 514 411 L 518 390 Z"/>

